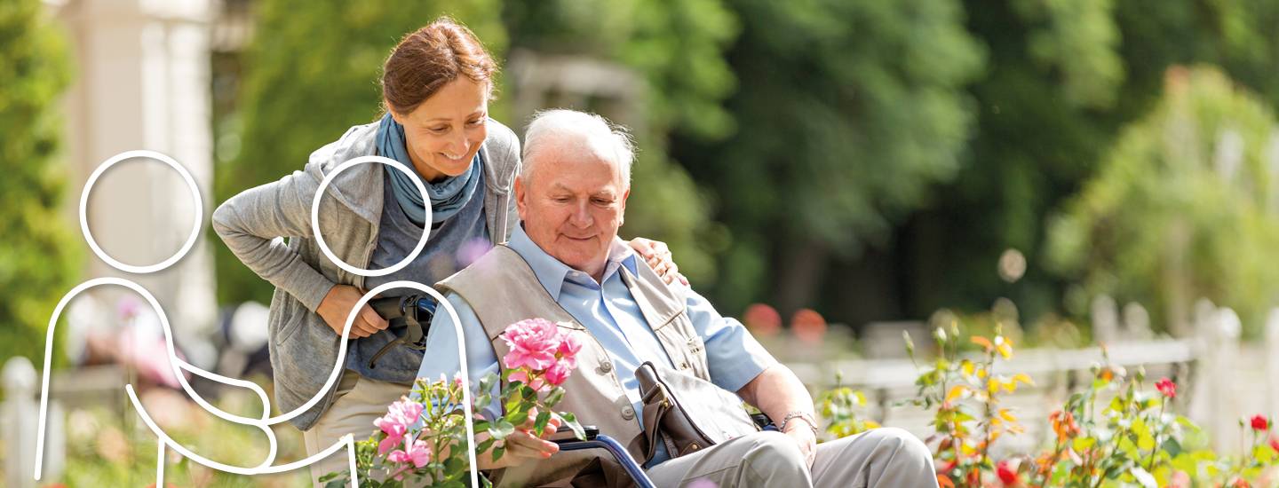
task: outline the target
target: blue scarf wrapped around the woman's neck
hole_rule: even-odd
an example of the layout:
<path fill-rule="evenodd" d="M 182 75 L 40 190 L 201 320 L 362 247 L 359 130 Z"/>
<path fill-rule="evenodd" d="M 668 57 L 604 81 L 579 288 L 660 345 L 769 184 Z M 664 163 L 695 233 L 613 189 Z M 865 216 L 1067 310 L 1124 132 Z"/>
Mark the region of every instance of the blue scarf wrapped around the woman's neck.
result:
<path fill-rule="evenodd" d="M 390 112 L 386 112 L 377 125 L 377 155 L 399 161 L 411 170 L 413 169 L 413 160 L 408 157 L 408 149 L 405 149 L 404 126 L 396 123 Z M 422 202 L 422 194 L 417 190 L 417 185 L 413 184 L 413 180 L 404 171 L 390 166 L 385 167 L 386 172 L 391 175 L 391 192 L 395 193 L 395 201 L 399 202 L 404 215 L 413 224 L 425 227 L 426 202 Z M 440 224 L 454 213 L 458 213 L 471 201 L 480 181 L 476 178 L 478 172 L 480 153 L 476 153 L 476 157 L 471 160 L 471 167 L 467 167 L 467 172 L 446 178 L 444 181 L 430 183 L 422 179 L 416 170 L 413 171 L 413 178 L 422 181 L 427 195 L 431 197 L 432 225 Z"/>

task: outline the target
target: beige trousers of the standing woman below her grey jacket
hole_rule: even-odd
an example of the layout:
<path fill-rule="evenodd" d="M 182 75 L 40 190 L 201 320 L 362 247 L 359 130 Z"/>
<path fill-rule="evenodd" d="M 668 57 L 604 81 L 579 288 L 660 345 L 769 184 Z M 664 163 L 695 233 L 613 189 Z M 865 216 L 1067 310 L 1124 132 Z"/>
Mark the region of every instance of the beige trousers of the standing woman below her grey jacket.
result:
<path fill-rule="evenodd" d="M 324 451 L 345 434 L 354 434 L 357 442 L 367 439 L 377 429 L 373 420 L 386 415 L 386 406 L 408 395 L 411 388 L 412 385 L 386 383 L 361 377 L 352 370 L 343 372 L 329 411 L 320 415 L 310 431 L 302 433 L 307 456 Z M 347 471 L 350 469 L 349 462 L 347 450 L 316 461 L 311 465 L 311 483 L 322 487 L 320 477 Z"/>

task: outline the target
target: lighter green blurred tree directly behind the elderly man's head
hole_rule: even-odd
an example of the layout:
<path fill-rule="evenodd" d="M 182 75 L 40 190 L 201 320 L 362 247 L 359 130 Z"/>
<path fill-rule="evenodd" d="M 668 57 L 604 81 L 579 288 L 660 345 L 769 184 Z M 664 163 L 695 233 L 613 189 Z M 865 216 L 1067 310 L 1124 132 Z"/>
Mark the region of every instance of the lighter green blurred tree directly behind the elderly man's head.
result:
<path fill-rule="evenodd" d="M 720 105 L 734 86 L 723 52 L 738 29 L 732 13 L 720 0 L 553 0 L 512 3 L 504 19 L 512 51 L 618 64 L 642 80 L 638 98 L 622 101 L 623 114 L 591 100 L 570 107 L 633 130 L 640 151 L 623 234 L 664 240 L 686 275 L 714 278 L 709 253 L 725 244 L 723 227 L 709 221 L 701 189 L 668 156 L 668 141 L 675 132 L 712 141 L 733 129 Z M 619 116 L 629 111 L 633 120 Z"/>

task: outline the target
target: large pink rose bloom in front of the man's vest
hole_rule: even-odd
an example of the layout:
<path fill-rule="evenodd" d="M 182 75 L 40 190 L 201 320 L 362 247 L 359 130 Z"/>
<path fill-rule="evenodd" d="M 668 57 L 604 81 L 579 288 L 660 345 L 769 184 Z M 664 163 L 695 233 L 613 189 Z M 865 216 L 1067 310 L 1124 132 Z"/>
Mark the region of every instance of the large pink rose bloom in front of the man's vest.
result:
<path fill-rule="evenodd" d="M 572 330 L 560 330 L 545 318 L 512 323 L 501 339 L 510 347 L 501 359 L 513 370 L 508 379 L 537 391 L 564 383 L 577 368 L 577 353 L 582 350 L 582 341 Z"/>

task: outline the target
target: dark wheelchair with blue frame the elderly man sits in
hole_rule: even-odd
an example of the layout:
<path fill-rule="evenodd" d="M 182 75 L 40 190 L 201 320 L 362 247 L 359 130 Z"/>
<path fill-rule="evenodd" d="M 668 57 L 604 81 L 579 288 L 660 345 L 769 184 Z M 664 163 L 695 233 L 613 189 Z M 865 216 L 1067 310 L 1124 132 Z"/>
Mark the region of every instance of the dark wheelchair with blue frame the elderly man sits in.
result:
<path fill-rule="evenodd" d="M 368 305 L 388 321 L 386 330 L 391 331 L 396 339 L 379 350 L 370 360 L 370 367 L 375 367 L 377 358 L 391 347 L 403 345 L 417 350 L 426 349 L 426 331 L 431 327 L 431 317 L 435 314 L 435 299 L 430 295 L 405 295 L 391 298 L 377 298 L 368 301 Z M 764 414 L 752 414 L 751 418 L 764 431 L 776 431 L 773 420 Z M 640 465 L 620 442 L 604 434 L 595 425 L 582 425 L 586 439 L 568 438 L 553 441 L 559 445 L 560 451 L 604 450 L 622 469 L 631 477 L 638 488 L 655 488 L 652 480 L 645 474 Z M 556 433 L 569 432 L 568 427 L 560 427 Z"/>

